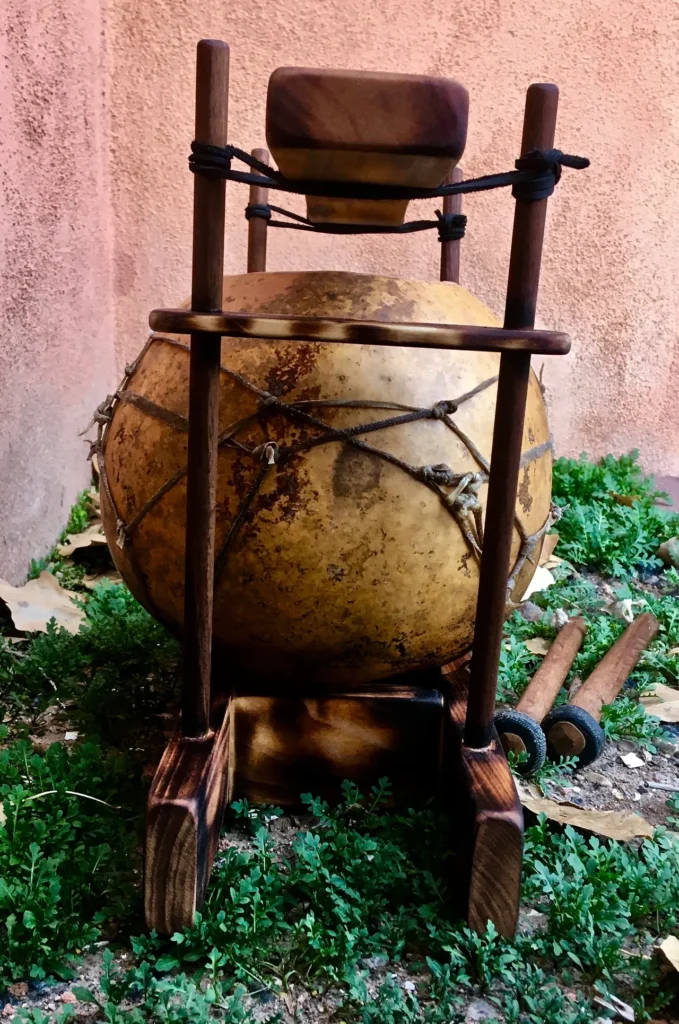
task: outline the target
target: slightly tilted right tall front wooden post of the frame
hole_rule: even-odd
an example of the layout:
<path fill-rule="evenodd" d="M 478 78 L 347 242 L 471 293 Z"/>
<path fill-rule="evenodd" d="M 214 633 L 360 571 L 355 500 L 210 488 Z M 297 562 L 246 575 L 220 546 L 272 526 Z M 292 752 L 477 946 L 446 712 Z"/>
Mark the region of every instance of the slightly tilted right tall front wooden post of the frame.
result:
<path fill-rule="evenodd" d="M 555 85 L 528 88 L 521 156 L 529 150 L 553 148 L 558 98 Z M 505 328 L 535 326 L 546 215 L 547 200 L 516 200 Z M 475 749 L 487 746 L 493 734 L 529 372 L 529 355 L 503 352 L 464 733 L 465 744 Z"/>

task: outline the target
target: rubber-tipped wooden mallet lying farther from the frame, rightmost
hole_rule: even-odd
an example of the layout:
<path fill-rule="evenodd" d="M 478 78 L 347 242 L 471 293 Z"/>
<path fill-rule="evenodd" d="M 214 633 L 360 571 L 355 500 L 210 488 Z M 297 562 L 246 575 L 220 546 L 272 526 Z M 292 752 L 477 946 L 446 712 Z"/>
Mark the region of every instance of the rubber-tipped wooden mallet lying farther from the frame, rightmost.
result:
<path fill-rule="evenodd" d="M 657 630 L 655 616 L 644 611 L 604 654 L 570 703 L 550 712 L 543 722 L 550 758 L 577 757 L 583 768 L 600 757 L 605 742 L 601 709 L 616 699 Z"/>

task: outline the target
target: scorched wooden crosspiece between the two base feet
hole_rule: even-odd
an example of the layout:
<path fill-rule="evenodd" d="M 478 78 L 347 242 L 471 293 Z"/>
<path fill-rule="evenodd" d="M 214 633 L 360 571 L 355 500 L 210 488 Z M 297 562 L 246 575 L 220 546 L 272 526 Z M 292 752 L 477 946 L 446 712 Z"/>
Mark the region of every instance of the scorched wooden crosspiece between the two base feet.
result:
<path fill-rule="evenodd" d="M 237 690 L 234 797 L 290 807 L 308 792 L 337 800 L 346 778 L 365 790 L 387 776 L 396 802 L 426 799 L 439 772 L 442 708 L 439 689 L 407 684 L 308 696 Z"/>

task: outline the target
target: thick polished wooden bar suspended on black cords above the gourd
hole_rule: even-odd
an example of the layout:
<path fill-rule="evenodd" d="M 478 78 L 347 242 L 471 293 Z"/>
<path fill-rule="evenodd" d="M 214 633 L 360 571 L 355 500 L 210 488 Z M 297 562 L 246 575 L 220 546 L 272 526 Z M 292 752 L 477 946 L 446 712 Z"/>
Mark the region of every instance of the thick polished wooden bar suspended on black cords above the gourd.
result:
<path fill-rule="evenodd" d="M 435 187 L 467 139 L 464 86 L 425 75 L 279 68 L 266 143 L 281 171 L 315 181 Z M 314 223 L 400 224 L 407 200 L 307 198 Z"/>

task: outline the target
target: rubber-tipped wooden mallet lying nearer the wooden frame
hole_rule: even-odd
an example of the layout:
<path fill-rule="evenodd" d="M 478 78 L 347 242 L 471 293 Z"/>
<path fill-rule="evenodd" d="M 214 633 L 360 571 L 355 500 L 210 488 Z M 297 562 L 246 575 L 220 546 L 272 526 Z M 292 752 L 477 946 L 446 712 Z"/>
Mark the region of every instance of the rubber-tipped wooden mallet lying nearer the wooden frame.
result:
<path fill-rule="evenodd" d="M 505 753 L 528 756 L 527 761 L 516 766 L 521 775 L 532 775 L 545 763 L 547 741 L 541 722 L 563 686 L 586 633 L 584 618 L 571 618 L 561 627 L 516 708 L 498 712 L 495 717 Z"/>

